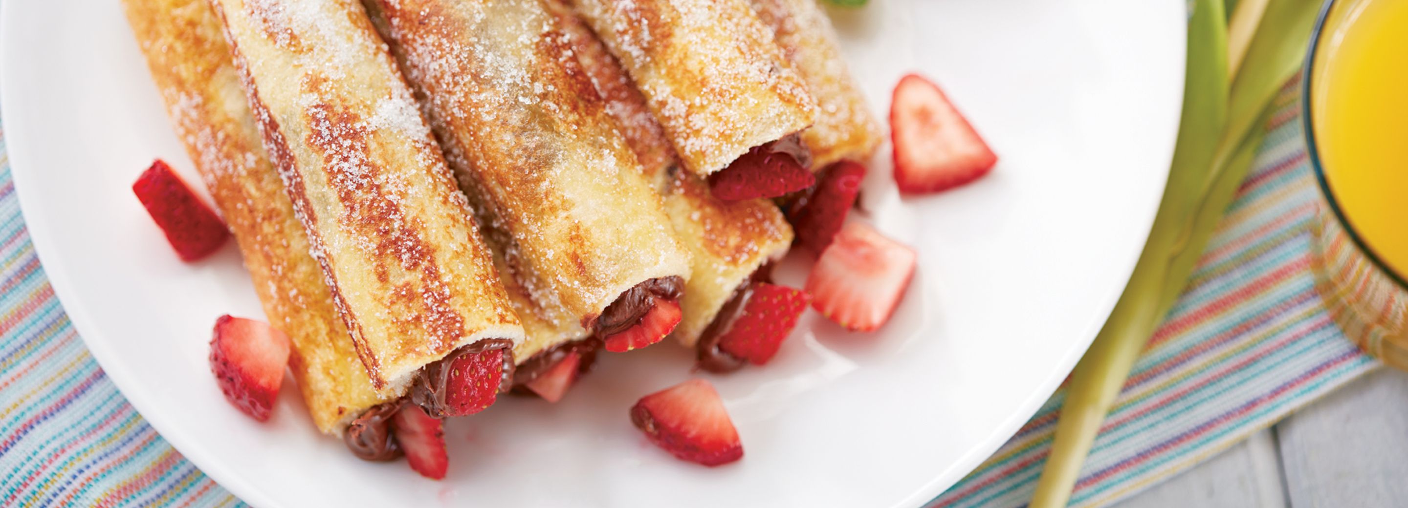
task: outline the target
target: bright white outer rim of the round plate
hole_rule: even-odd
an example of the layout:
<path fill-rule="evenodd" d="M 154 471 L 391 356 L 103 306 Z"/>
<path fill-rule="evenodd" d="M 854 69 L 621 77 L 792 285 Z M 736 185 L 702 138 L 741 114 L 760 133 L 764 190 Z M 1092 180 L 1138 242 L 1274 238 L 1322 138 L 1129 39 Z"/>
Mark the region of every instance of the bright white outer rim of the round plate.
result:
<path fill-rule="evenodd" d="M 1181 4 L 1181 1 L 1178 3 Z M 14 15 L 11 14 L 15 4 L 17 1 L 14 0 L 0 1 L 0 34 L 14 32 L 13 30 L 10 30 L 10 25 L 13 23 L 17 23 L 14 21 Z M 1180 25 L 1186 25 L 1186 18 L 1180 20 Z M 11 80 L 13 80 L 11 73 L 6 72 L 11 65 L 10 63 L 11 44 L 8 44 L 8 41 L 10 41 L 8 37 L 0 35 L 0 125 L 8 125 L 7 120 L 11 118 L 11 114 L 7 111 L 14 110 L 11 106 L 15 101 L 13 94 L 4 93 L 6 90 L 11 89 Z M 1177 41 L 1170 41 L 1170 44 L 1173 42 L 1177 42 L 1176 61 L 1178 62 L 1176 69 L 1177 83 L 1173 86 L 1177 90 L 1177 100 L 1173 103 L 1173 107 L 1177 111 L 1181 111 L 1181 104 L 1183 104 L 1181 99 L 1184 93 L 1184 80 L 1187 72 L 1186 66 L 1187 31 L 1186 30 L 1178 31 L 1178 38 Z M 1173 118 L 1176 118 L 1173 125 L 1173 132 L 1170 132 L 1167 139 L 1163 142 L 1164 149 L 1157 158 L 1159 160 L 1166 160 L 1160 166 L 1162 170 L 1159 172 L 1159 176 L 1163 177 L 1163 182 L 1159 184 L 1160 197 L 1163 196 L 1163 191 L 1167 186 L 1167 173 L 1170 169 L 1169 166 L 1173 160 L 1174 145 L 1177 141 L 1177 127 L 1178 127 L 1177 118 L 1181 117 L 1181 114 L 1178 114 L 1177 111 L 1173 114 Z M 23 142 L 23 139 L 25 139 L 27 135 L 24 134 L 24 131 L 11 128 L 4 128 L 3 132 L 4 132 L 3 134 L 4 152 L 8 158 L 10 174 L 14 182 L 15 187 L 14 191 L 18 200 L 24 228 L 28 232 L 30 242 L 35 250 L 35 255 L 39 259 L 42 269 L 45 260 L 45 252 L 51 252 L 51 249 L 54 249 L 49 235 L 51 228 L 44 225 L 45 222 L 42 220 L 44 215 L 38 214 L 34 210 L 35 205 L 27 204 L 35 200 L 34 196 L 25 198 L 25 196 L 30 194 L 25 189 L 32 189 L 32 186 L 25 184 L 25 182 L 28 180 L 28 176 L 25 176 L 27 173 L 23 170 L 15 170 L 15 167 L 20 166 L 20 162 L 27 159 L 27 155 L 24 155 L 27 153 L 24 148 L 25 144 Z M 17 139 L 21 141 L 15 142 Z M 1143 248 L 1148 243 L 1149 232 L 1153 228 L 1155 215 L 1160 204 L 1159 201 L 1160 200 L 1155 200 L 1155 203 L 1149 204 L 1146 207 L 1148 210 L 1143 211 L 1143 215 L 1146 217 L 1146 220 L 1142 221 L 1142 224 L 1146 224 L 1146 227 L 1142 228 L 1145 231 L 1142 234 L 1143 241 L 1139 243 L 1139 248 L 1132 253 L 1129 262 L 1126 263 L 1126 267 L 1121 270 L 1121 273 L 1124 274 L 1121 279 L 1128 280 L 1129 276 L 1133 273 L 1139 255 L 1143 252 Z M 34 228 L 34 224 L 37 224 L 35 218 L 38 218 L 38 224 L 41 224 L 39 228 Z M 173 449 L 182 453 L 182 456 L 186 460 L 190 460 L 203 474 L 210 477 L 210 480 L 215 481 L 220 487 L 228 490 L 232 495 L 235 495 L 241 501 L 258 507 L 279 505 L 276 500 L 266 495 L 262 488 L 246 481 L 244 476 L 225 474 L 225 467 L 221 466 L 213 457 L 213 455 L 206 450 L 206 446 L 203 446 L 199 439 L 193 439 L 190 435 L 179 431 L 166 432 L 168 429 L 179 429 L 179 425 L 172 424 L 165 417 L 163 411 L 156 411 L 156 407 L 159 404 L 152 401 L 148 393 L 137 388 L 130 390 L 132 388 L 131 384 L 135 381 L 132 380 L 132 376 L 128 374 L 130 369 L 127 369 L 127 366 L 122 362 L 115 360 L 117 353 L 107 346 L 111 343 L 111 341 L 89 341 L 89 336 L 100 336 L 104 334 L 94 324 L 89 321 L 92 314 L 83 311 L 84 307 L 79 303 L 79 300 L 75 300 L 73 294 L 76 294 L 77 290 L 73 288 L 73 281 L 69 277 L 69 274 L 63 270 L 58 272 L 44 270 L 44 273 L 51 288 L 54 290 L 54 296 L 59 300 L 63 314 L 68 317 L 69 322 L 79 334 L 79 338 L 83 341 L 86 350 L 99 363 L 107 379 L 111 380 L 113 384 L 118 388 L 124 400 L 127 400 L 127 402 L 131 404 L 138 411 L 142 419 L 145 419 L 161 435 L 162 439 L 170 443 Z M 1098 319 L 1098 322 L 1091 324 L 1093 329 L 1084 334 L 1084 338 L 1077 343 L 1079 348 L 1071 348 L 1067 357 L 1063 357 L 1057 362 L 1060 367 L 1053 370 L 1052 376 L 1046 379 L 1039 388 L 1033 390 L 1032 394 L 1022 401 L 1022 404 L 1015 412 L 1012 412 L 1001 425 L 994 426 L 993 432 L 990 432 L 979 446 L 970 447 L 967 453 L 959 457 L 959 460 L 949 464 L 949 467 L 945 471 L 936 474 L 928 483 L 918 487 L 918 490 L 915 490 L 907 498 L 898 501 L 894 507 L 922 507 L 928 502 L 932 502 L 939 495 L 942 495 L 948 488 L 957 484 L 957 481 L 962 480 L 963 476 L 972 473 L 977 466 L 983 463 L 983 460 L 988 459 L 1012 435 L 1015 435 L 1017 431 L 1021 428 L 1021 425 L 1029 421 L 1031 417 L 1036 414 L 1036 411 L 1042 407 L 1042 404 L 1045 404 L 1045 401 L 1049 400 L 1050 395 L 1060 387 L 1060 383 L 1070 374 L 1076 363 L 1090 349 L 1090 345 L 1094 342 L 1095 334 L 1105 324 L 1105 321 L 1108 321 L 1108 317 L 1114 311 L 1114 307 L 1118 303 L 1122 293 L 1124 293 L 1124 286 L 1119 288 L 1119 291 L 1112 291 L 1112 294 L 1108 296 L 1104 303 L 1101 303 L 1100 308 L 1102 308 L 1102 311 L 1100 311 L 1098 315 L 1102 315 L 1104 318 Z"/>

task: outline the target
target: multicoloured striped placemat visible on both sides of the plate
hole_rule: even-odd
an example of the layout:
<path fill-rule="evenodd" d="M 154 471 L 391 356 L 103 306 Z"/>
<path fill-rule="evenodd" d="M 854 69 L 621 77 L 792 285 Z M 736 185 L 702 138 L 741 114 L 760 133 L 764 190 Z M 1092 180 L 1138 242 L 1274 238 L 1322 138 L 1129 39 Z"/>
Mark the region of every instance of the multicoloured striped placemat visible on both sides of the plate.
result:
<path fill-rule="evenodd" d="M 1095 442 L 1076 505 L 1187 469 L 1374 366 L 1311 286 L 1314 189 L 1294 89 L 1277 108 L 1240 197 Z M 1025 504 L 1060 401 L 934 505 Z M 239 504 L 162 440 L 83 348 L 24 231 L 0 135 L 0 507 Z"/>

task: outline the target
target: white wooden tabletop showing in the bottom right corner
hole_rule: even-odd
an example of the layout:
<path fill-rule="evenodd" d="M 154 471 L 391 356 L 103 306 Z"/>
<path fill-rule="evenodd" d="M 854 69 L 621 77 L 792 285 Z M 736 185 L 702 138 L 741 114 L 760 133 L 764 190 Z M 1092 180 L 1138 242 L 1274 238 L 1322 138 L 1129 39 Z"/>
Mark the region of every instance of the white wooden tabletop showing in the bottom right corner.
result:
<path fill-rule="evenodd" d="M 1381 367 L 1117 507 L 1408 507 L 1408 373 Z"/>

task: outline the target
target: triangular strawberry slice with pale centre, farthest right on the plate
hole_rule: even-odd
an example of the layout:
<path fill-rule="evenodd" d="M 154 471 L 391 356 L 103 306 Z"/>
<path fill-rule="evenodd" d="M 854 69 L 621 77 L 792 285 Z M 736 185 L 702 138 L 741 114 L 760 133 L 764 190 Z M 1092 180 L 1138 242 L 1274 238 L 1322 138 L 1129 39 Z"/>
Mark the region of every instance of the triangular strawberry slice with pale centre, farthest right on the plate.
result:
<path fill-rule="evenodd" d="M 894 182 L 901 193 L 936 193 L 987 174 L 997 165 L 973 125 L 938 84 L 908 75 L 890 103 Z"/>

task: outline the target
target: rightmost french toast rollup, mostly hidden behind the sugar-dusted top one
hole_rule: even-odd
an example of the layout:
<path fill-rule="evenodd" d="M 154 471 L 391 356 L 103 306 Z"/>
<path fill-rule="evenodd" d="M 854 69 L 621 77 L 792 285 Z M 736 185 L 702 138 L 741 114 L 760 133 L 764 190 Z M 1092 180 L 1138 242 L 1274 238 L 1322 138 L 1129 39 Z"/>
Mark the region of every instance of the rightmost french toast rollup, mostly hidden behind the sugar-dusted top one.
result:
<path fill-rule="evenodd" d="M 884 132 L 846 69 L 831 18 L 817 0 L 750 1 L 817 100 L 817 121 L 801 132 L 811 151 L 811 170 L 841 159 L 866 162 Z"/>

